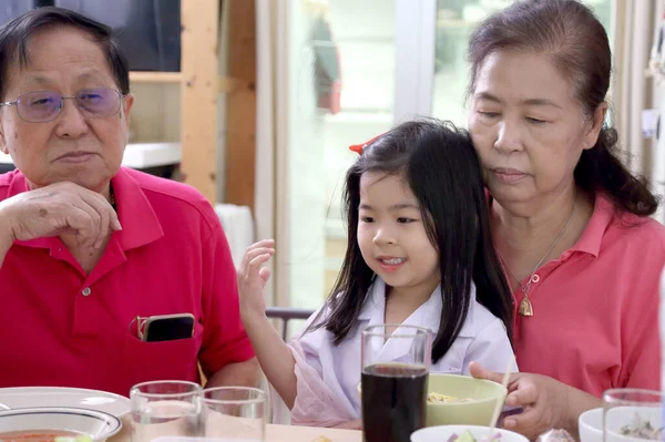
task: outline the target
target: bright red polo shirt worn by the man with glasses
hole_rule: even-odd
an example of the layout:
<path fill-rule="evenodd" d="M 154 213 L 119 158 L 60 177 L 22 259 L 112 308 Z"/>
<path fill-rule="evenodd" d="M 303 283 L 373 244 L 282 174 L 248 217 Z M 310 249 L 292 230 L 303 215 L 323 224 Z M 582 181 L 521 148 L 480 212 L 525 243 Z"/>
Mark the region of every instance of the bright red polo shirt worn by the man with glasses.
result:
<path fill-rule="evenodd" d="M 58 237 L 17 241 L 0 268 L 0 387 L 127 395 L 149 380 L 198 380 L 254 356 L 222 226 L 194 188 L 129 168 L 112 179 L 123 230 L 86 275 Z M 28 191 L 0 175 L 0 201 Z M 191 339 L 143 342 L 136 317 L 192 313 Z"/>

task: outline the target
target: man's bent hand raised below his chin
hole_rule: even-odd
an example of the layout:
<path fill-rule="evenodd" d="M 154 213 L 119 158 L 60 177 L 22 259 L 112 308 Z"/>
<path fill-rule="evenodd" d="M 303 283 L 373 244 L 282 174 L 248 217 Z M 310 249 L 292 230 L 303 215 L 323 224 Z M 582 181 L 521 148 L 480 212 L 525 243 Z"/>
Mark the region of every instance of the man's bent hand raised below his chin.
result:
<path fill-rule="evenodd" d="M 106 198 L 66 182 L 4 199 L 0 203 L 0 220 L 9 227 L 11 241 L 71 233 L 80 246 L 94 248 L 102 247 L 112 230 L 122 229 Z"/>

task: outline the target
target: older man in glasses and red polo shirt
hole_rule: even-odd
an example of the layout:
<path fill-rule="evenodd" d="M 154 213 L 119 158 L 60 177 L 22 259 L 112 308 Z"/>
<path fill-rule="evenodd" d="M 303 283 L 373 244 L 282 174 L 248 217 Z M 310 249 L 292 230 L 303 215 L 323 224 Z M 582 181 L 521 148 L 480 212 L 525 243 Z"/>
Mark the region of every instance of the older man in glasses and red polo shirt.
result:
<path fill-rule="evenodd" d="M 134 99 L 110 29 L 30 11 L 0 29 L 0 150 L 17 166 L 0 175 L 0 387 L 126 395 L 197 381 L 200 364 L 208 386 L 255 386 L 215 212 L 188 186 L 121 167 Z M 164 315 L 194 326 L 142 339 Z"/>

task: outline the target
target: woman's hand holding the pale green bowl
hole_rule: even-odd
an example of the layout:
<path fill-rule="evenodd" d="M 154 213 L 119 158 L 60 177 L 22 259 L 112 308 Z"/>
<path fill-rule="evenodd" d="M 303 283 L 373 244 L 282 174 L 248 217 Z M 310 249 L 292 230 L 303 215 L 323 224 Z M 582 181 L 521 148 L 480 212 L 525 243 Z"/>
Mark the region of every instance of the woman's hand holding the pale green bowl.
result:
<path fill-rule="evenodd" d="M 471 376 L 494 382 L 503 380 L 502 373 L 488 371 L 472 362 Z M 513 373 L 508 384 L 505 404 L 522 407 L 520 414 L 503 420 L 503 428 L 516 431 L 530 440 L 552 430 L 566 430 L 577 436 L 577 418 L 585 410 L 600 405 L 600 399 L 576 390 L 563 382 L 541 374 Z"/>

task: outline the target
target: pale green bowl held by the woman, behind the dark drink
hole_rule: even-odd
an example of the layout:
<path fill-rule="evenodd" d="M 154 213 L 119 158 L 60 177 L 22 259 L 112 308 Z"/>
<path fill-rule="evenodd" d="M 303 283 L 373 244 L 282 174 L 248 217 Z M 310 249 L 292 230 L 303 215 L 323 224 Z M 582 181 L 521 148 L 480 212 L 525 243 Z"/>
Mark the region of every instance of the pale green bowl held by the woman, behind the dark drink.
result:
<path fill-rule="evenodd" d="M 471 399 L 458 403 L 427 403 L 426 425 L 489 425 L 498 401 L 507 393 L 500 383 L 467 376 L 430 373 L 428 393 Z"/>

